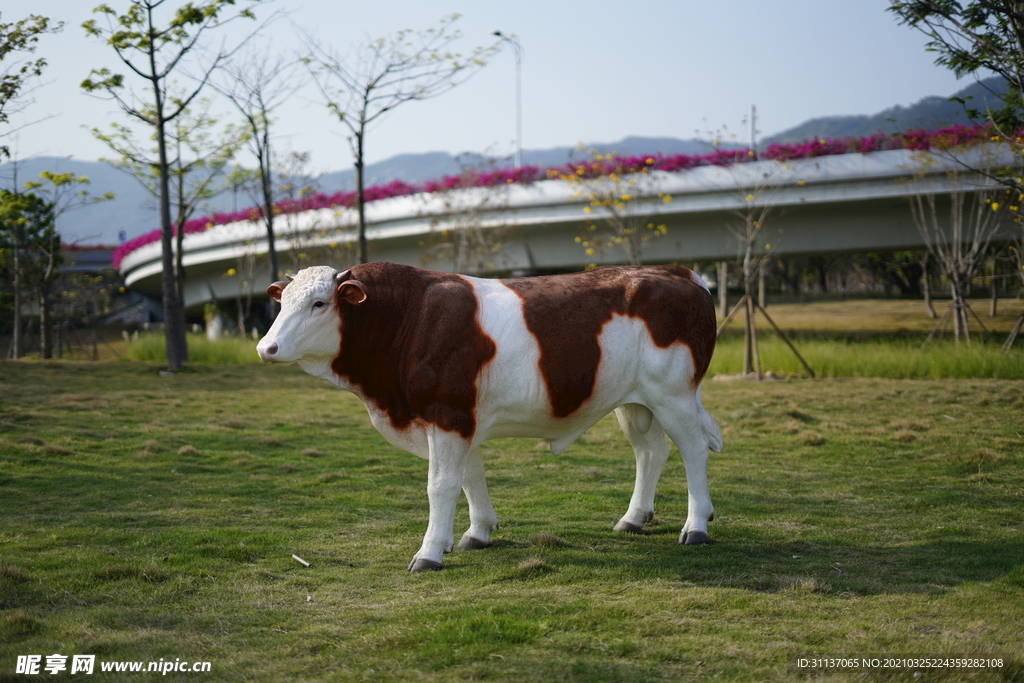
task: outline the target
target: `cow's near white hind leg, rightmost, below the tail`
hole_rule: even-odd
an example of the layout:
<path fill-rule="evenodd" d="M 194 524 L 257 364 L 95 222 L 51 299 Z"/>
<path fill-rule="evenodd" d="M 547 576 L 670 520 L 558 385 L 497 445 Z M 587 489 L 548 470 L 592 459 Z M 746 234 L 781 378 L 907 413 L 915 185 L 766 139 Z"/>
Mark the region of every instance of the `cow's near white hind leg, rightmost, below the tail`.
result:
<path fill-rule="evenodd" d="M 655 411 L 654 417 L 679 449 L 686 468 L 688 505 L 679 543 L 687 546 L 706 544 L 709 541 L 708 522 L 715 517 L 708 489 L 708 449 L 721 447 L 721 435 L 716 441 L 715 435 L 710 433 L 708 425 L 714 424 L 714 420 L 703 412 L 699 396 L 663 407 Z M 714 431 L 717 433 L 717 425 Z"/>

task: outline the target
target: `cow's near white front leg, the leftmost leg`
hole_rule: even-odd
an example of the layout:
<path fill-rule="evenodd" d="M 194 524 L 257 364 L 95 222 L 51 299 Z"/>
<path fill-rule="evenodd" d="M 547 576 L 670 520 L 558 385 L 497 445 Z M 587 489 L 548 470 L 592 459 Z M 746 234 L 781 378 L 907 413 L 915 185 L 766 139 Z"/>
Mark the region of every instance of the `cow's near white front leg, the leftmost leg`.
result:
<path fill-rule="evenodd" d="M 440 569 L 444 553 L 455 544 L 455 506 L 462 490 L 468 457 L 465 440 L 451 432 L 431 428 L 427 434 L 427 500 L 430 521 L 423 545 L 409 564 L 410 571 Z"/>

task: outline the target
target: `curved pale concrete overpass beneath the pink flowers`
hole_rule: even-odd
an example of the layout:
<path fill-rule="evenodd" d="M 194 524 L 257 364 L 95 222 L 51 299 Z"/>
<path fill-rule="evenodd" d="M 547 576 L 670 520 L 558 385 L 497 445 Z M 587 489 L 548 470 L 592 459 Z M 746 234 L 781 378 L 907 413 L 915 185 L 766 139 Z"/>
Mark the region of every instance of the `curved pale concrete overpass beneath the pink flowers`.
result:
<path fill-rule="evenodd" d="M 978 145 L 963 160 L 1006 167 L 1009 151 Z M 910 151 L 848 154 L 778 164 L 755 162 L 732 167 L 698 167 L 651 173 L 655 189 L 671 196 L 637 200 L 650 220 L 667 232 L 643 247 L 644 262 L 716 261 L 736 258 L 739 242 L 730 230 L 736 212 L 770 204 L 765 241 L 780 255 L 821 254 L 922 248 L 924 242 L 910 214 L 907 197 L 950 190 L 949 171 L 963 166 L 947 157 Z M 979 181 L 968 189 L 981 186 Z M 945 200 L 947 201 L 947 200 Z M 562 180 L 504 188 L 469 188 L 444 195 L 414 195 L 367 206 L 372 260 L 395 261 L 436 270 L 452 270 L 443 254 L 424 260 L 425 249 L 442 230 L 472 224 L 482 233 L 502 236 L 489 255 L 484 274 L 528 274 L 581 268 L 588 263 L 627 261 L 621 248 L 587 255 L 575 238 L 585 234 L 588 201 Z M 355 212 L 324 209 L 280 216 L 276 224 L 279 262 L 285 270 L 329 263 L 354 262 Z M 184 239 L 185 304 L 234 301 L 252 294 L 265 298 L 269 282 L 265 229 L 238 222 L 214 226 Z M 159 296 L 160 243 L 128 254 L 121 272 L 128 287 Z"/>

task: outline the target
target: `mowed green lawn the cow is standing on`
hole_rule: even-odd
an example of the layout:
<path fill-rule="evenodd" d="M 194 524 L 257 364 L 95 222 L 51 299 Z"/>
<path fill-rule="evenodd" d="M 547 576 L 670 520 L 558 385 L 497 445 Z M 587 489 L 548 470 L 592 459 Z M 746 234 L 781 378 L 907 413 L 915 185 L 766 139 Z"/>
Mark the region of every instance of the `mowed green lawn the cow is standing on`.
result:
<path fill-rule="evenodd" d="M 634 475 L 612 419 L 557 458 L 495 441 L 495 546 L 410 574 L 426 464 L 354 397 L 294 368 L 158 371 L 0 362 L 0 681 L 52 653 L 213 667 L 166 680 L 777 681 L 854 654 L 1006 660 L 868 680 L 1024 677 L 1019 381 L 707 383 L 703 547 L 676 543 L 676 454 L 649 532 L 611 530 Z"/>

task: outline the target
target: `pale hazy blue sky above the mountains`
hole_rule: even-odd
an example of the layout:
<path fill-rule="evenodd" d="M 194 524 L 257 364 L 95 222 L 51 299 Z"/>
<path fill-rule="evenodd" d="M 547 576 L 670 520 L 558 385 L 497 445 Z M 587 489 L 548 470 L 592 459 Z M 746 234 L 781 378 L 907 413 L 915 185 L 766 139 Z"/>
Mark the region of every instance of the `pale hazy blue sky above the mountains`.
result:
<path fill-rule="evenodd" d="M 117 10 L 128 5 L 106 1 Z M 79 87 L 90 69 L 124 71 L 113 50 L 81 28 L 97 4 L 35 0 L 31 9 L 23 3 L 2 12 L 4 22 L 30 12 L 65 22 L 62 32 L 40 41 L 37 54 L 49 68 L 33 93 L 35 102 L 18 118 L 18 123 L 39 122 L 5 140 L 22 159 L 111 156 L 88 128 L 124 121 L 124 116 Z M 688 138 L 723 125 L 745 139 L 749 131 L 741 121 L 752 104 L 758 108 L 758 128 L 770 135 L 812 117 L 873 114 L 966 86 L 934 66 L 924 36 L 898 25 L 886 11 L 888 4 L 640 0 L 627 7 L 607 0 L 279 0 L 259 3 L 256 12 L 261 18 L 273 10 L 289 12 L 259 43 L 283 54 L 304 49 L 295 27 L 345 53 L 400 29 L 435 26 L 453 12 L 463 14 L 457 24 L 463 52 L 489 44 L 496 29 L 516 34 L 523 48 L 523 146 L 541 148 L 629 135 Z M 220 40 L 219 34 L 211 38 Z M 372 129 L 367 160 L 431 151 L 511 155 L 514 65 L 506 48 L 464 85 L 433 100 L 401 105 Z M 345 131 L 315 89 L 299 91 L 276 115 L 279 146 L 311 153 L 312 170 L 350 166 Z"/>

